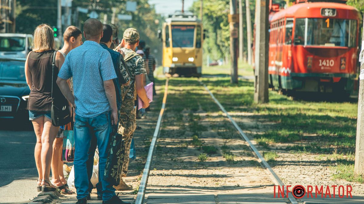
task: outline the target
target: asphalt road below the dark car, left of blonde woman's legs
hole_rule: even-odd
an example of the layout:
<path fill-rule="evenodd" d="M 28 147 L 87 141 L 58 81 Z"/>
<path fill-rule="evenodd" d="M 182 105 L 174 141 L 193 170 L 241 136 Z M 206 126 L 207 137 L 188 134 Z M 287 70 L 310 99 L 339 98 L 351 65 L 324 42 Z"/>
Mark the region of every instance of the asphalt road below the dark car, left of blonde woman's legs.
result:
<path fill-rule="evenodd" d="M 0 203 L 28 203 L 37 196 L 35 142 L 29 123 L 0 121 Z"/>

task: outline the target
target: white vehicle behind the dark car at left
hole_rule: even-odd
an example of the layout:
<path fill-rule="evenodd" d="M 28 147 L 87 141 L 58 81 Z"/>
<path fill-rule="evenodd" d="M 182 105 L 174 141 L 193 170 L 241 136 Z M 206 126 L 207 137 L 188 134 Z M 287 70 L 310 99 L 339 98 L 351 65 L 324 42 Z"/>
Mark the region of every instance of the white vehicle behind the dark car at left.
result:
<path fill-rule="evenodd" d="M 31 34 L 0 33 L 0 58 L 27 58 L 32 46 Z"/>

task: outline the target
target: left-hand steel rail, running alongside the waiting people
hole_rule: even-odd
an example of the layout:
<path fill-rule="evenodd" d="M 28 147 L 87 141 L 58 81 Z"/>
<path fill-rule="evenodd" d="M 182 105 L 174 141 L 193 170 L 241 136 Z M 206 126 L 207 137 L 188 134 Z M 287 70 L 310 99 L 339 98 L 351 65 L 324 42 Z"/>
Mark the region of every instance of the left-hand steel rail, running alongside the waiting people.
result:
<path fill-rule="evenodd" d="M 142 175 L 142 179 L 141 179 L 141 182 L 140 182 L 140 185 L 139 185 L 139 190 L 138 190 L 138 194 L 137 194 L 137 199 L 135 200 L 135 204 L 142 204 L 144 196 L 145 196 L 145 189 L 147 187 L 149 171 L 150 171 L 150 164 L 151 164 L 152 159 L 153 159 L 154 147 L 155 147 L 155 144 L 157 143 L 159 129 L 161 128 L 163 113 L 164 113 L 164 110 L 165 110 L 165 107 L 166 107 L 168 81 L 169 81 L 169 79 L 167 78 L 166 86 L 165 86 L 165 89 L 164 89 L 162 108 L 161 108 L 161 111 L 159 112 L 157 125 L 155 126 L 152 142 L 150 143 L 148 157 L 147 157 L 147 161 L 146 161 L 145 166 L 144 166 L 143 175 Z"/>

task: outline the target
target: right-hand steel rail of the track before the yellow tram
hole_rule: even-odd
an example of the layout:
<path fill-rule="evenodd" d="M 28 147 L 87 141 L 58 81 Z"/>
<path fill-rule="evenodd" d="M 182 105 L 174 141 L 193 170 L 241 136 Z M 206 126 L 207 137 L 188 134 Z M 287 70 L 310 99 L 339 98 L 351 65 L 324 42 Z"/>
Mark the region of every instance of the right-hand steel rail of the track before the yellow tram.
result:
<path fill-rule="evenodd" d="M 241 130 L 241 128 L 238 126 L 238 124 L 234 121 L 234 119 L 229 115 L 229 113 L 227 113 L 227 111 L 225 110 L 225 108 L 221 105 L 221 103 L 215 98 L 214 94 L 211 93 L 211 91 L 209 90 L 209 88 L 207 88 L 207 86 L 202 83 L 201 81 L 199 81 L 203 87 L 205 87 L 205 90 L 207 92 L 209 92 L 210 96 L 214 99 L 215 103 L 220 107 L 220 109 L 226 114 L 226 117 L 230 119 L 230 122 L 233 123 L 233 125 L 235 126 L 235 128 L 239 131 L 240 135 L 242 136 L 242 138 L 248 143 L 248 146 L 254 151 L 254 153 L 257 155 L 258 157 L 258 162 L 266 168 L 266 170 L 269 172 L 269 174 L 273 177 L 273 181 L 276 185 L 284 185 L 283 181 L 278 177 L 278 175 L 276 174 L 276 172 L 273 171 L 272 167 L 270 167 L 270 165 L 268 164 L 268 162 L 266 162 L 266 160 L 264 159 L 264 157 L 260 154 L 260 152 L 257 150 L 257 148 L 254 146 L 254 144 L 249 140 L 248 136 L 246 136 L 246 134 Z M 285 192 L 286 193 L 286 192 Z M 287 195 L 287 194 L 286 194 Z M 297 200 L 293 197 L 293 195 L 291 193 L 288 193 L 288 199 L 292 204 L 298 204 Z"/>

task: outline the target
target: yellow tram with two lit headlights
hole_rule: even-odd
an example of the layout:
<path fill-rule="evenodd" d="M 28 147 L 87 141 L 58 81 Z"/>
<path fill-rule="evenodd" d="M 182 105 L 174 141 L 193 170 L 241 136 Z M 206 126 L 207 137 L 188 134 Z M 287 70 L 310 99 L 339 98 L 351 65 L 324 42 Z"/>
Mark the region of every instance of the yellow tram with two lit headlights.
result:
<path fill-rule="evenodd" d="M 202 23 L 193 13 L 177 12 L 163 23 L 163 74 L 201 76 Z"/>

